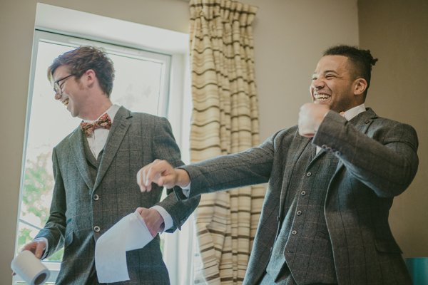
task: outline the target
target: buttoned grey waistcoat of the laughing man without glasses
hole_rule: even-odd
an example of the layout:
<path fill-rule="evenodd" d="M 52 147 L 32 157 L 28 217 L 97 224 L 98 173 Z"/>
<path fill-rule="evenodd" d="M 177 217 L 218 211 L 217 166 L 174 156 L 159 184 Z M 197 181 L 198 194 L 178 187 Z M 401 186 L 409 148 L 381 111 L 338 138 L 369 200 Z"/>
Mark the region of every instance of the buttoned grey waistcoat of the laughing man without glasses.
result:
<path fill-rule="evenodd" d="M 326 151 L 317 154 L 315 145 L 310 142 L 307 140 L 295 162 L 287 191 L 282 191 L 285 194 L 281 197 L 284 204 L 280 205 L 283 215 L 278 217 L 277 237 L 266 271 L 273 280 L 280 276 L 282 280 L 285 272 L 290 272 L 297 278 L 303 276 L 301 283 L 335 284 L 335 264 L 325 222 L 324 201 L 338 158 Z"/>

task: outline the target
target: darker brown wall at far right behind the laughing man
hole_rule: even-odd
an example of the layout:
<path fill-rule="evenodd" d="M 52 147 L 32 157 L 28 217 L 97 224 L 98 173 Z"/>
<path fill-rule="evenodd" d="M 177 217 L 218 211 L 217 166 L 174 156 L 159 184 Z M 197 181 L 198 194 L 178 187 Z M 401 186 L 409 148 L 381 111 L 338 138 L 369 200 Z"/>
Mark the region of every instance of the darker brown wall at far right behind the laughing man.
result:
<path fill-rule="evenodd" d="M 419 136 L 419 170 L 389 222 L 404 256 L 428 257 L 428 1 L 359 0 L 358 8 L 360 46 L 379 58 L 367 105 Z"/>

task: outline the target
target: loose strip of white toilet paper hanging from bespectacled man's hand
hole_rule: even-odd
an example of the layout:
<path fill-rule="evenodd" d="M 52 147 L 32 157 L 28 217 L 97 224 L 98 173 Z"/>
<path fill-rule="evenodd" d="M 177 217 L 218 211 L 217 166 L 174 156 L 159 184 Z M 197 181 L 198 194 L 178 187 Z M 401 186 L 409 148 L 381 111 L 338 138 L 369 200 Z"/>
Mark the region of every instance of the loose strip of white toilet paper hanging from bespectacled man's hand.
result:
<path fill-rule="evenodd" d="M 126 252 L 141 249 L 152 239 L 138 212 L 123 217 L 96 241 L 95 266 L 98 281 L 111 283 L 129 280 Z"/>

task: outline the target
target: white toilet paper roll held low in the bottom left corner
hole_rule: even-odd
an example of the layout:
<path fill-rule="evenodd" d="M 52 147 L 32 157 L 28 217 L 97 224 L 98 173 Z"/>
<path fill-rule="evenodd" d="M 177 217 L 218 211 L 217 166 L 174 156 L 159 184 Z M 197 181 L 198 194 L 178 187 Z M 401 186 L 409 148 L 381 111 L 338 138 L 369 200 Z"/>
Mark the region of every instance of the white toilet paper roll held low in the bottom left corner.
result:
<path fill-rule="evenodd" d="M 51 275 L 49 269 L 29 250 L 20 252 L 12 260 L 11 269 L 30 285 L 43 284 Z"/>

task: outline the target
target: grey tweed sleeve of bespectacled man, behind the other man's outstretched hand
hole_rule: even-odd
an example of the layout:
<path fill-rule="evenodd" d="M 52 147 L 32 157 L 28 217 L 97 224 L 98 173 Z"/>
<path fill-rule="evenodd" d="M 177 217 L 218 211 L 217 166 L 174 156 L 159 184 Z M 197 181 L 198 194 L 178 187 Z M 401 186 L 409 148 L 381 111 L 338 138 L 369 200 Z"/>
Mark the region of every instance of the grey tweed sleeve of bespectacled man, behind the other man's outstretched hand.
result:
<path fill-rule="evenodd" d="M 168 161 L 173 167 L 183 165 L 184 163 L 180 159 L 180 149 L 175 142 L 168 120 L 161 118 L 160 122 L 156 122 L 155 128 L 156 132 L 153 138 L 154 157 Z M 182 201 L 175 197 L 173 190 L 168 189 L 167 194 L 167 197 L 159 202 L 158 205 L 163 207 L 173 219 L 173 227 L 167 229 L 166 232 L 174 232 L 175 229 L 181 228 L 198 206 L 200 197 Z"/>

